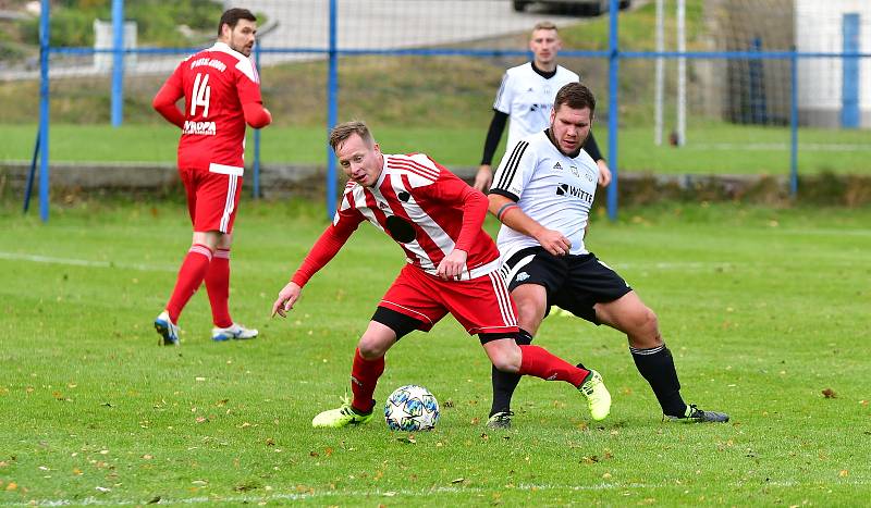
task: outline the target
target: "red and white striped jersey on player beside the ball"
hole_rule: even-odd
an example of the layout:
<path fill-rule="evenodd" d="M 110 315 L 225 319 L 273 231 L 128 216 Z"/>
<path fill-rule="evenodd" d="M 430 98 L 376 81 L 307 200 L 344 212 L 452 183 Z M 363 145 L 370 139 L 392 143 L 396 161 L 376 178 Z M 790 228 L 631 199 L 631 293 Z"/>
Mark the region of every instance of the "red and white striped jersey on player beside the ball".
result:
<path fill-rule="evenodd" d="M 303 286 L 335 256 L 363 221 L 387 233 L 406 261 L 436 275 L 454 249 L 468 253 L 461 280 L 499 268 L 499 249 L 482 228 L 487 197 L 422 153 L 384 154 L 372 187 L 348 182 L 333 223 L 311 248 L 293 281 Z"/>

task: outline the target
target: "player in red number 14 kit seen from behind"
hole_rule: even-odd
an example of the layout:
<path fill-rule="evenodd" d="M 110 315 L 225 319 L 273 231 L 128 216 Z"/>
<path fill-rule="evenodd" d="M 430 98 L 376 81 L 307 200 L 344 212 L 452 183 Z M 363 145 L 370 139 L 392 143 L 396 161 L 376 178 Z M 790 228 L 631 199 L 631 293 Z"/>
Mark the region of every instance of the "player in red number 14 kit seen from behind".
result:
<path fill-rule="evenodd" d="M 185 59 L 152 106 L 182 129 L 179 174 L 187 191 L 194 238 L 167 308 L 155 320 L 164 345 L 179 345 L 179 315 L 203 282 L 209 294 L 212 339 L 254 338 L 230 318 L 230 246 L 245 156 L 245 124 L 266 127 L 272 115 L 260 99 L 260 78 L 248 58 L 257 17 L 246 9 L 221 15 L 218 40 Z M 184 111 L 175 102 L 184 97 Z"/>

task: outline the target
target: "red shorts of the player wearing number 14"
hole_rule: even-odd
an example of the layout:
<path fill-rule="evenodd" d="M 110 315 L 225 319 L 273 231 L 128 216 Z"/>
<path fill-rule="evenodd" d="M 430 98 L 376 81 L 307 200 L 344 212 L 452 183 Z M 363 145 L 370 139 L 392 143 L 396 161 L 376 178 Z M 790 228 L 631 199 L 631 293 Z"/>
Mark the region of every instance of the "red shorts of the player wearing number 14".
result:
<path fill-rule="evenodd" d="M 194 231 L 232 233 L 242 191 L 242 168 L 211 164 L 204 168 L 180 168 L 187 191 L 187 212 Z"/>

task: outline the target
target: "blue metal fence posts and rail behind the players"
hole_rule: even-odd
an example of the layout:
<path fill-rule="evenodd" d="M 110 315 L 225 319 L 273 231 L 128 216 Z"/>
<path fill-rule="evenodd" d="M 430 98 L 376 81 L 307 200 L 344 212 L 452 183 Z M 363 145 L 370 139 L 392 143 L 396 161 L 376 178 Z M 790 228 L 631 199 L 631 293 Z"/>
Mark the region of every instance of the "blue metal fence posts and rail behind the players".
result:
<path fill-rule="evenodd" d="M 845 37 L 843 51 L 841 52 L 800 52 L 796 50 L 788 51 L 764 51 L 760 48 L 750 48 L 746 51 L 633 51 L 623 50 L 618 44 L 618 29 L 619 29 L 619 11 L 618 0 L 611 1 L 610 8 L 610 29 L 609 29 L 609 45 L 608 50 L 604 51 L 562 51 L 561 58 L 596 58 L 606 60 L 609 63 L 609 117 L 608 117 L 608 156 L 611 165 L 614 181 L 608 188 L 608 213 L 614 220 L 617 216 L 618 202 L 617 189 L 619 182 L 619 161 L 618 156 L 618 137 L 617 129 L 619 123 L 619 97 L 618 97 L 618 80 L 621 75 L 621 62 L 629 60 L 650 60 L 650 59 L 707 59 L 707 60 L 744 60 L 749 62 L 762 62 L 765 60 L 782 60 L 788 61 L 790 65 L 790 95 L 789 95 L 789 121 L 790 139 L 789 139 L 789 156 L 788 160 L 784 160 L 784 169 L 788 168 L 789 174 L 789 190 L 795 194 L 798 189 L 798 171 L 797 171 L 797 157 L 798 157 L 798 61 L 801 59 L 841 59 L 844 61 L 845 76 L 854 76 L 858 82 L 858 62 L 860 59 L 871 58 L 871 53 L 863 53 L 859 51 L 859 45 L 856 42 L 856 35 L 858 33 L 858 21 L 855 18 L 846 20 L 845 27 L 850 26 L 852 32 L 849 32 L 849 40 Z M 39 202 L 40 202 L 40 218 L 47 221 L 49 218 L 49 57 L 50 54 L 94 54 L 99 52 L 109 52 L 113 55 L 113 71 L 112 71 L 112 87 L 111 87 L 111 122 L 112 125 L 121 125 L 123 122 L 123 97 L 124 97 L 124 55 L 128 53 L 139 54 L 188 54 L 194 52 L 196 48 L 173 48 L 173 49 L 157 49 L 157 48 L 138 48 L 126 49 L 123 45 L 123 20 L 124 20 L 124 0 L 112 1 L 112 16 L 113 16 L 113 48 L 106 50 L 98 50 L 94 48 L 57 48 L 49 44 L 50 27 L 50 1 L 41 0 L 42 11 L 40 20 L 40 104 L 39 104 L 39 133 L 36 143 L 36 150 L 34 153 L 34 162 L 36 162 L 36 154 L 39 157 Z M 254 58 L 259 65 L 263 54 L 277 53 L 297 53 L 297 54 L 314 54 L 318 57 L 326 57 L 329 62 L 329 72 L 327 78 L 327 97 L 328 97 L 328 111 L 327 111 L 327 129 L 332 128 L 338 122 L 338 103 L 339 103 L 339 58 L 348 55 L 421 55 L 421 57 L 450 57 L 462 55 L 471 58 L 493 58 L 493 57 L 528 57 L 527 51 L 515 51 L 504 49 L 464 49 L 464 48 L 405 48 L 405 49 L 382 49 L 382 48 L 342 48 L 339 44 L 339 0 L 329 1 L 329 34 L 328 42 L 324 47 L 260 47 L 255 46 Z M 846 30 L 847 28 L 845 28 Z M 845 32 L 846 34 L 846 32 Z M 757 76 L 759 78 L 759 76 Z M 844 80 L 844 100 L 852 101 L 849 107 L 845 107 L 845 125 L 852 124 L 858 108 L 858 90 L 849 87 L 856 87 L 855 83 Z M 260 195 L 260 134 L 255 132 L 255 157 L 253 168 L 253 193 L 254 196 Z M 327 175 L 327 213 L 332 215 L 335 209 L 336 199 L 336 166 L 332 151 L 327 148 L 326 162 L 328 168 Z M 32 171 L 33 176 L 33 171 Z M 29 188 L 29 186 L 28 186 Z M 29 190 L 25 197 L 25 211 L 29 201 Z"/>

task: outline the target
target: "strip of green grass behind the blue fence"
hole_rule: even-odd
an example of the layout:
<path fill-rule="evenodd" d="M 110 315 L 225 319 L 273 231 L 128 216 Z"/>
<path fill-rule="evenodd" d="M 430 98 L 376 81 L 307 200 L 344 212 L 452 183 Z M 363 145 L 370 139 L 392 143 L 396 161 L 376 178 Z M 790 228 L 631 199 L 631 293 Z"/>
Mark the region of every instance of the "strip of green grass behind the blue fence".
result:
<path fill-rule="evenodd" d="M 387 152 L 421 151 L 453 166 L 480 162 L 484 128 L 395 127 L 372 125 Z M 29 160 L 36 133 L 34 125 L 0 125 L 7 140 L 0 146 L 0 161 Z M 802 129 L 798 171 L 871 174 L 871 147 L 861 131 Z M 267 164 L 326 164 L 327 129 L 319 127 L 269 127 L 262 132 L 261 157 Z M 619 132 L 619 170 L 666 174 L 772 174 L 789 172 L 789 133 L 777 127 L 747 127 L 708 124 L 688 132 L 683 148 L 655 147 L 647 127 Z M 608 154 L 608 131 L 597 129 L 597 140 Z M 53 125 L 50 133 L 53 161 L 175 161 L 177 132 L 169 125 Z M 504 139 L 503 139 L 504 145 Z M 843 149 L 838 149 L 838 147 Z M 120 148 L 123 147 L 123 148 Z M 248 154 L 253 159 L 252 136 Z M 502 153 L 500 148 L 498 153 Z M 499 158 L 496 158 L 496 162 Z"/>

